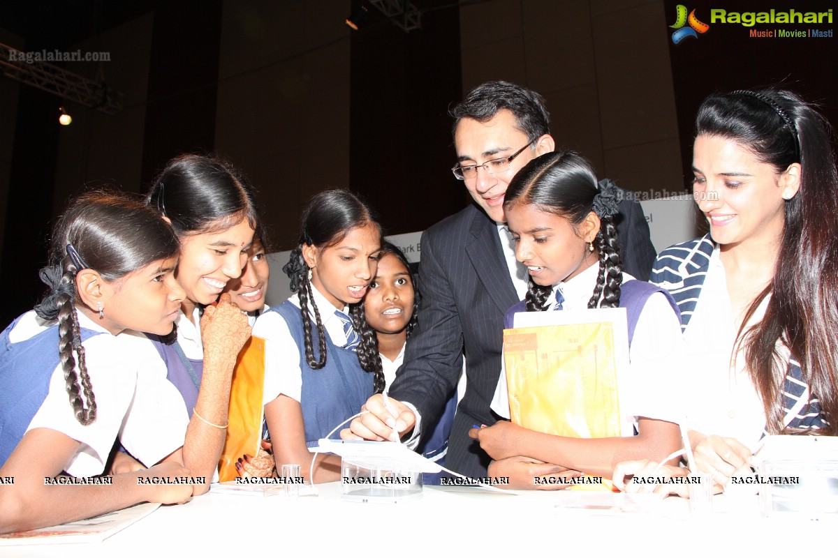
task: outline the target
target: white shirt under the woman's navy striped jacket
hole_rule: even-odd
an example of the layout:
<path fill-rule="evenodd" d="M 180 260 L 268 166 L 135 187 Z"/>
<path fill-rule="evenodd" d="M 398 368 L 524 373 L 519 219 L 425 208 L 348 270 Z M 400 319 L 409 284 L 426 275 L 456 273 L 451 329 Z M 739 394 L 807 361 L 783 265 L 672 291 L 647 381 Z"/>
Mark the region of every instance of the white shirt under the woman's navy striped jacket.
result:
<path fill-rule="evenodd" d="M 769 299 L 763 299 L 748 326 L 763 319 Z M 747 375 L 744 351 L 739 351 L 733 369 L 736 335 L 727 276 L 716 244 L 696 310 L 684 332 L 686 357 L 681 362 L 693 363 L 695 369 L 690 390 L 685 392 L 686 426 L 705 434 L 736 438 L 754 449 L 765 427 L 765 410 Z"/>

